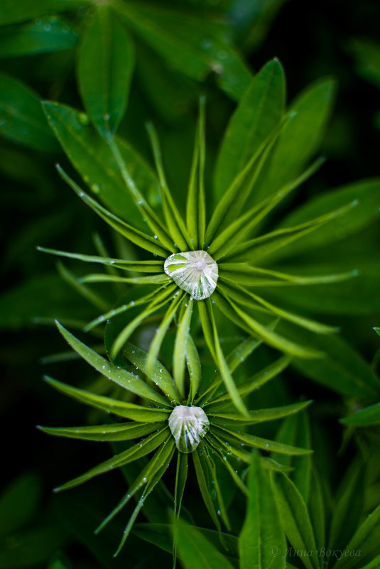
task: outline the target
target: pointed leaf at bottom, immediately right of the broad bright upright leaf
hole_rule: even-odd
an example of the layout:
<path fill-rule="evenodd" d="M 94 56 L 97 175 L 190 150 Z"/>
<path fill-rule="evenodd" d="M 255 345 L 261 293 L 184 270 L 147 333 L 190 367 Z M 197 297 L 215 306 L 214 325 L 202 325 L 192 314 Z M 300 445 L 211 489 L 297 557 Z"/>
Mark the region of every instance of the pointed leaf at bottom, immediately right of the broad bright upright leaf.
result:
<path fill-rule="evenodd" d="M 281 472 L 271 472 L 271 484 L 283 530 L 296 551 L 311 552 L 300 556 L 307 569 L 318 569 L 315 537 L 308 510 L 295 484 Z"/>

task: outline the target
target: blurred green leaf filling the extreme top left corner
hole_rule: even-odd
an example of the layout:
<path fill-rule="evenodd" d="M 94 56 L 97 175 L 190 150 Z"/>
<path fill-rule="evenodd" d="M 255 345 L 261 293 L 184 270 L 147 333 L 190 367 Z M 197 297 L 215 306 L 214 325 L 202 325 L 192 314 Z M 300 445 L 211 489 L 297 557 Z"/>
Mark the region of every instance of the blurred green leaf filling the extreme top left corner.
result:
<path fill-rule="evenodd" d="M 0 25 L 33 20 L 47 13 L 76 10 L 79 6 L 86 4 L 90 4 L 90 0 L 33 0 L 33 2 L 2 0 Z"/>

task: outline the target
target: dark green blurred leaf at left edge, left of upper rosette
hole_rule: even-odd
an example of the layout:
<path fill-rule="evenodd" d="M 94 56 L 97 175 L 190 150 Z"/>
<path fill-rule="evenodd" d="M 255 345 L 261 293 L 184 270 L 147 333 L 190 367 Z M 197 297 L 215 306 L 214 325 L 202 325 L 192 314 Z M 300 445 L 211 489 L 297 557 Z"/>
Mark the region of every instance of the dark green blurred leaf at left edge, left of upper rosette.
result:
<path fill-rule="evenodd" d="M 45 152 L 57 152 L 38 95 L 21 81 L 0 74 L 0 134 Z"/>

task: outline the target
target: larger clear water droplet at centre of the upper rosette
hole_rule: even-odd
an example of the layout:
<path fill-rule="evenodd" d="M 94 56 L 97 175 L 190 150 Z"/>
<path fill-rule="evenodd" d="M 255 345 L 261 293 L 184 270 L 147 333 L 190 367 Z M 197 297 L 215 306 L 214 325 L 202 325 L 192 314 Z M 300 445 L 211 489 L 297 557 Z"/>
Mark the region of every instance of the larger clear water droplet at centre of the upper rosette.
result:
<path fill-rule="evenodd" d="M 195 300 L 208 298 L 217 286 L 218 266 L 206 251 L 174 253 L 166 259 L 163 268 L 175 284 Z"/>

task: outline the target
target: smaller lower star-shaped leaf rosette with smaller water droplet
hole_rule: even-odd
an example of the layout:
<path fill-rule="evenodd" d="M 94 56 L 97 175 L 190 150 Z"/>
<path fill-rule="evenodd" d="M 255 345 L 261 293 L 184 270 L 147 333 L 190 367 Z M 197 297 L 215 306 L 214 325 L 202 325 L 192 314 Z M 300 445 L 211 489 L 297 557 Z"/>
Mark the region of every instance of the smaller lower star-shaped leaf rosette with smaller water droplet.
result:
<path fill-rule="evenodd" d="M 149 455 L 148 462 L 141 468 L 139 476 L 97 529 L 98 532 L 104 528 L 131 499 L 136 499 L 137 505 L 131 514 L 115 555 L 121 550 L 144 502 L 161 481 L 175 455 L 177 459 L 173 498 L 175 515 L 178 516 L 180 513 L 188 475 L 188 455 L 191 455 L 202 499 L 215 526 L 220 530 L 218 510 L 227 529 L 229 520 L 222 493 L 219 492 L 216 462 L 227 469 L 237 487 L 244 494 L 248 494 L 246 485 L 239 471 L 236 470 L 236 462 L 233 461 L 237 460 L 243 465 L 249 465 L 251 461 L 249 451 L 252 448 L 276 453 L 276 456 L 281 454 L 305 455 L 311 452 L 308 449 L 267 440 L 246 432 L 247 427 L 251 425 L 298 413 L 305 409 L 310 401 L 278 408 L 248 411 L 246 416 L 242 416 L 241 413 L 231 410 L 232 399 L 228 392 L 220 390 L 223 381 L 219 372 L 210 380 L 207 394 L 195 396 L 200 384 L 200 365 L 199 362 L 192 360 L 188 352 L 187 357 L 189 362 L 191 361 L 193 372 L 190 375 L 189 392 L 184 398 L 173 377 L 157 359 L 153 359 L 151 371 L 148 372 L 148 359 L 151 360 L 151 356 L 143 349 L 126 342 L 123 349 L 125 367 L 116 367 L 77 340 L 59 323 L 58 328 L 75 352 L 92 365 L 97 372 L 119 386 L 121 392 L 132 393 L 141 401 L 141 403 L 131 403 L 124 401 L 122 397 L 112 399 L 46 378 L 51 386 L 63 394 L 106 413 L 111 413 L 119 421 L 96 426 L 40 427 L 40 429 L 52 435 L 85 440 L 123 442 L 137 439 L 134 444 L 129 442 L 129 446 L 121 453 L 58 487 L 55 489 L 56 492 L 76 487 L 94 476 L 123 467 Z M 239 366 L 241 357 L 248 357 L 260 343 L 258 340 L 249 338 L 234 349 L 227 358 L 230 372 L 234 372 Z M 286 368 L 289 360 L 288 356 L 283 356 L 244 381 L 237 388 L 239 397 L 249 396 L 276 377 Z M 134 369 L 134 372 L 129 369 Z M 241 428 L 243 429 L 240 430 Z M 288 470 L 288 467 L 284 467 L 272 458 L 263 457 L 263 461 L 268 469 Z M 212 497 L 212 489 L 215 489 L 215 498 Z"/>

